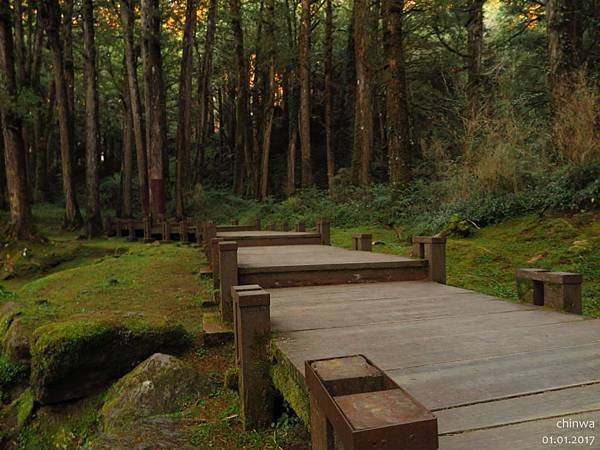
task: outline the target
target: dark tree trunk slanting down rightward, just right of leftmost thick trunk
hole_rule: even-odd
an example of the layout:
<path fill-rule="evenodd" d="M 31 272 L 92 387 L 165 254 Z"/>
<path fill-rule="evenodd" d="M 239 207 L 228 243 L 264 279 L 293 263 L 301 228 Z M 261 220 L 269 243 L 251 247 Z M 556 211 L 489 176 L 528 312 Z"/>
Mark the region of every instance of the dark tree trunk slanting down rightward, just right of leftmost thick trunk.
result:
<path fill-rule="evenodd" d="M 60 41 L 60 7 L 58 6 L 58 0 L 44 0 L 40 8 L 46 26 L 54 81 L 56 83 L 63 192 L 65 196 L 64 226 L 66 228 L 77 229 L 81 227 L 83 220 L 77 204 L 75 182 L 73 179 L 73 164 L 71 160 L 73 156 L 73 115 L 69 107 L 63 49 Z"/>

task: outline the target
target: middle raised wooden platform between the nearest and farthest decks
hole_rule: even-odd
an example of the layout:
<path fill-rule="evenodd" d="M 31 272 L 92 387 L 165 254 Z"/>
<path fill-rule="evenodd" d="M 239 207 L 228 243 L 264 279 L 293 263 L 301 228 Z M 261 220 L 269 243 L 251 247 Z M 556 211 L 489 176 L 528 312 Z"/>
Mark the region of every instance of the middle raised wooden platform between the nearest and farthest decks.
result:
<path fill-rule="evenodd" d="M 239 244 L 241 241 L 237 242 Z M 239 283 L 259 284 L 263 288 L 419 280 L 427 276 L 428 263 L 423 259 L 352 251 L 328 245 L 238 249 Z"/>

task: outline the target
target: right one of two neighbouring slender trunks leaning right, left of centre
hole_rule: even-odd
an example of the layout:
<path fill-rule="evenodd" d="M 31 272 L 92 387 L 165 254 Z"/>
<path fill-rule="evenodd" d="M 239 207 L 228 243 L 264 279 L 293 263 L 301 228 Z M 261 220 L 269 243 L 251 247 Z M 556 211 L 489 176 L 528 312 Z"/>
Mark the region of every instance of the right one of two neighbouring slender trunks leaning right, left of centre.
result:
<path fill-rule="evenodd" d="M 198 114 L 198 149 L 196 151 L 196 171 L 195 176 L 198 178 L 202 174 L 203 158 L 200 155 L 204 154 L 204 146 L 208 132 L 208 111 L 209 111 L 209 96 L 210 96 L 210 79 L 213 72 L 213 54 L 215 48 L 215 33 L 217 31 L 217 10 L 219 8 L 218 0 L 210 0 L 208 6 L 208 22 L 206 25 L 206 38 L 204 40 L 204 57 L 202 60 L 202 69 L 200 72 L 200 82 L 198 83 L 198 101 L 200 103 L 200 111 Z M 221 95 L 221 94 L 220 94 Z M 222 132 L 222 128 L 220 128 Z"/>

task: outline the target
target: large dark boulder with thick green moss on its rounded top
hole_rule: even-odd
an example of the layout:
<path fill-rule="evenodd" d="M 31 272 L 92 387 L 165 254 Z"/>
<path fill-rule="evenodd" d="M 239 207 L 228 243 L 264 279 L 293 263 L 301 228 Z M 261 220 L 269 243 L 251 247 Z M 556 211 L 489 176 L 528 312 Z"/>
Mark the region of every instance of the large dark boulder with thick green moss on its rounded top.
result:
<path fill-rule="evenodd" d="M 31 386 L 41 404 L 85 397 L 156 352 L 179 353 L 191 342 L 165 316 L 98 312 L 35 330 Z"/>

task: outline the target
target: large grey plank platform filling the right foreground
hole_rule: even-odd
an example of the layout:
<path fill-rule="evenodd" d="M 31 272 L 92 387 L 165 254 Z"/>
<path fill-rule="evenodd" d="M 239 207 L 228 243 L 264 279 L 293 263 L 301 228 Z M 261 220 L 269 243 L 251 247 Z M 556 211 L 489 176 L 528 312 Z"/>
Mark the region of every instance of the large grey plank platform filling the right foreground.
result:
<path fill-rule="evenodd" d="M 310 255 L 246 251 L 245 267 Z M 270 293 L 277 347 L 301 385 L 306 360 L 364 354 L 437 415 L 441 449 L 600 448 L 598 320 L 427 281 Z M 575 420 L 595 428 L 565 425 Z"/>

